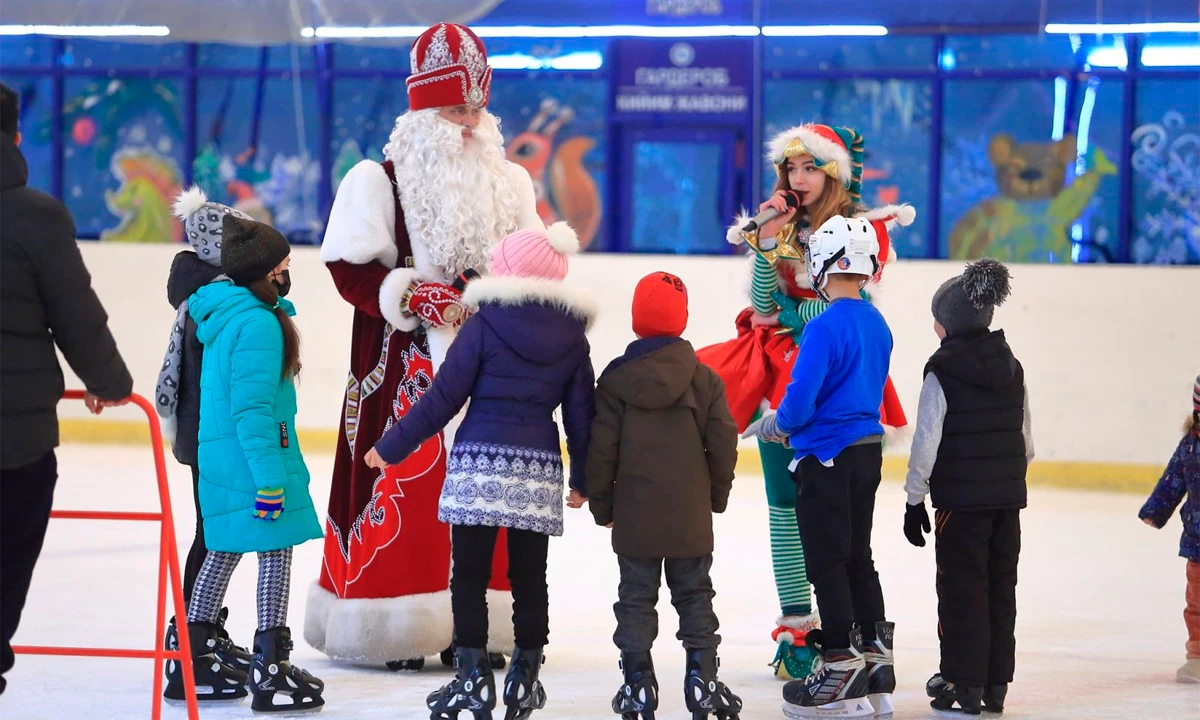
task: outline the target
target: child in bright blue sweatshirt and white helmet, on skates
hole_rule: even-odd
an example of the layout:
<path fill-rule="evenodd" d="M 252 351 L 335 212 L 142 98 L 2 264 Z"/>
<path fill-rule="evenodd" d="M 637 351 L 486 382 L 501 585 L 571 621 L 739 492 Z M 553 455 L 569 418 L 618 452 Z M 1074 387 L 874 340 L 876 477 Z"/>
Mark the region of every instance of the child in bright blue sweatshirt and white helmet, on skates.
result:
<path fill-rule="evenodd" d="M 859 290 L 880 270 L 870 222 L 835 216 L 808 247 L 812 289 L 829 308 L 804 329 L 792 380 L 775 413 L 746 430 L 794 450 L 796 515 L 822 630 L 806 644 L 820 670 L 784 686 L 788 716 L 870 718 L 890 710 L 894 625 L 871 560 L 871 518 L 883 462 L 880 404 L 892 331 Z M 870 695 L 870 698 L 868 698 Z"/>

